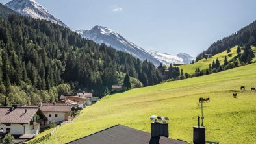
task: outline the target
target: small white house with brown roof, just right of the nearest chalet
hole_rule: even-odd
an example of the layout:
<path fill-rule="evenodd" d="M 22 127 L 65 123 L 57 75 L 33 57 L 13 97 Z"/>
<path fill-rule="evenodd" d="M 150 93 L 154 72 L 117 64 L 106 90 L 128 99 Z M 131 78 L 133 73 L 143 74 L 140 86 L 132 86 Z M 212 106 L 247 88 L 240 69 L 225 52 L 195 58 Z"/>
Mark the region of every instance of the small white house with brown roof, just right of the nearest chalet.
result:
<path fill-rule="evenodd" d="M 68 104 L 41 104 L 40 110 L 47 117 L 49 124 L 62 123 L 71 118 L 72 105 Z"/>

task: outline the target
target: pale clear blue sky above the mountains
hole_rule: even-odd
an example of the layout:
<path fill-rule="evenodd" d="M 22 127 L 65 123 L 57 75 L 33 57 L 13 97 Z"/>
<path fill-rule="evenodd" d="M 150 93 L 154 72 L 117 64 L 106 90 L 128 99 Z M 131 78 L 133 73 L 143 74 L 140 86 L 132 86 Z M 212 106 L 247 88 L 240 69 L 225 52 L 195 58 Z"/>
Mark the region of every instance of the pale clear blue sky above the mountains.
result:
<path fill-rule="evenodd" d="M 71 29 L 101 25 L 147 51 L 192 56 L 256 20 L 255 0 L 36 1 Z"/>

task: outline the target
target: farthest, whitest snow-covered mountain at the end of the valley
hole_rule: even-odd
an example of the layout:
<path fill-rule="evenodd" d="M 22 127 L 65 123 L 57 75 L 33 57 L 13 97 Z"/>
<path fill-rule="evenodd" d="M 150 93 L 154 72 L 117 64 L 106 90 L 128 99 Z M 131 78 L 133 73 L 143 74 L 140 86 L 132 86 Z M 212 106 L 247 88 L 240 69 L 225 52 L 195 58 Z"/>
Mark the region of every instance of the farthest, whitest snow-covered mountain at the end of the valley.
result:
<path fill-rule="evenodd" d="M 149 51 L 149 53 L 157 58 L 162 64 L 169 66 L 172 64 L 190 64 L 194 58 L 186 53 L 179 53 L 177 56 L 167 54 L 167 53 L 159 53 L 157 51 Z"/>

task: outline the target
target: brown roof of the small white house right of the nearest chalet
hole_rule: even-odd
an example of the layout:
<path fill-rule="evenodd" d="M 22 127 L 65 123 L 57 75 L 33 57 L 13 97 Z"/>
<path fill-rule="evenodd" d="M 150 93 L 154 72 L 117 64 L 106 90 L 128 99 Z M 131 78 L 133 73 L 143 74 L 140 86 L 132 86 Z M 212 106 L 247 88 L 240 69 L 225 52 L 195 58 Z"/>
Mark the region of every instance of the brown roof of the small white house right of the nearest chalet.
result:
<path fill-rule="evenodd" d="M 42 112 L 70 112 L 72 107 L 62 104 L 42 104 L 39 108 Z"/>

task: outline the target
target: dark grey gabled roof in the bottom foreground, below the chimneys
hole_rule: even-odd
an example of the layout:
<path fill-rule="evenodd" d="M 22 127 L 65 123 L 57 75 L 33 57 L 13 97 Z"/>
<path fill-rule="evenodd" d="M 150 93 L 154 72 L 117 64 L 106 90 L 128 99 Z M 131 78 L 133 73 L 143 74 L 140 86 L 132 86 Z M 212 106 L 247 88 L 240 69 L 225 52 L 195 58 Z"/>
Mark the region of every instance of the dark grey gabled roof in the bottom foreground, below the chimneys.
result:
<path fill-rule="evenodd" d="M 115 125 L 84 138 L 69 142 L 70 144 L 149 144 L 151 134 L 123 125 Z M 161 137 L 160 144 L 185 144 L 184 141 Z"/>

